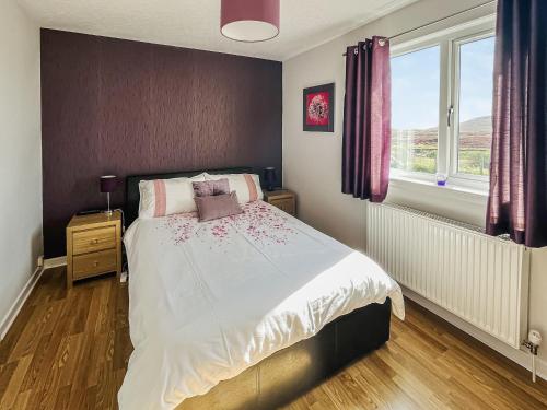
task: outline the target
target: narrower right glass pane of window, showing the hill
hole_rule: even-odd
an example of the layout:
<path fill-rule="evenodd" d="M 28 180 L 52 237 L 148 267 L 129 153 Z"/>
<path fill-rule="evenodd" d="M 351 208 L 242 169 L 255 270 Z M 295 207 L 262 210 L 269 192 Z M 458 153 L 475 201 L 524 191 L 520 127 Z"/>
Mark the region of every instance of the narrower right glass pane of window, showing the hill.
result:
<path fill-rule="evenodd" d="M 493 48 L 494 37 L 459 46 L 458 173 L 489 174 Z"/>

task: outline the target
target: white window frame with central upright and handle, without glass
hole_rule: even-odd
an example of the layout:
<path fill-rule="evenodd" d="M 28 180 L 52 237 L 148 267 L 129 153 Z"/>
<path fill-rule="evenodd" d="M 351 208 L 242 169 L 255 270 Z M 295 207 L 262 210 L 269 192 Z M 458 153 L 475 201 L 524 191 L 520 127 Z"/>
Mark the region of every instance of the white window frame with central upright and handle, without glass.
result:
<path fill-rule="evenodd" d="M 488 176 L 458 173 L 458 117 L 459 117 L 459 47 L 474 40 L 494 35 L 496 16 L 487 15 L 463 24 L 401 43 L 392 42 L 391 58 L 439 46 L 439 130 L 437 172 L 434 174 L 391 168 L 394 179 L 409 179 L 437 185 L 437 174 L 447 176 L 447 185 L 488 191 Z M 452 113 L 450 112 L 453 108 Z M 450 117 L 450 125 L 449 125 Z"/>

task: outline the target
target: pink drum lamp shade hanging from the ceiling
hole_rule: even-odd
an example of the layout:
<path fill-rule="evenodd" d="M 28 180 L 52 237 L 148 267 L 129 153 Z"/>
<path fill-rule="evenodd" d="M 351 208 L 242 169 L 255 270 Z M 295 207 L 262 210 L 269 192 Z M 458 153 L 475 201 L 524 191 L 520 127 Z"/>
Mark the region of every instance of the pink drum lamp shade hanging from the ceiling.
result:
<path fill-rule="evenodd" d="M 222 0 L 220 32 L 237 42 L 265 42 L 279 34 L 279 0 Z"/>

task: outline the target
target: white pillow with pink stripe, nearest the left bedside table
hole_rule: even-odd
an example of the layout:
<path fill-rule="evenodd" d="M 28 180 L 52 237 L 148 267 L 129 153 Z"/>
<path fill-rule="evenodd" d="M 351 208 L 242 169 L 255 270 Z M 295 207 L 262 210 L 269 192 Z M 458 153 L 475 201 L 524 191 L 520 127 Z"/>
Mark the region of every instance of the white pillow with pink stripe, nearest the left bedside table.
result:
<path fill-rule="evenodd" d="M 191 183 L 203 180 L 205 174 L 191 178 L 139 181 L 139 218 L 151 219 L 197 211 Z"/>

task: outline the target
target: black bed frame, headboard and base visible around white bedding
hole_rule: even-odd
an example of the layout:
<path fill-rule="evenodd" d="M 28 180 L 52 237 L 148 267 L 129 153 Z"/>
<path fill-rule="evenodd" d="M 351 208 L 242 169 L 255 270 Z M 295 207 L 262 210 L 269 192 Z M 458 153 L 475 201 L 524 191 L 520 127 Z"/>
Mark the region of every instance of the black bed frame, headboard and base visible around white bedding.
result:
<path fill-rule="evenodd" d="M 135 175 L 126 180 L 126 222 L 138 218 L 139 181 L 209 174 L 252 173 L 251 167 Z M 325 326 L 314 337 L 283 349 L 177 410 L 274 409 L 296 398 L 348 363 L 389 340 L 392 303 L 370 304 Z"/>

